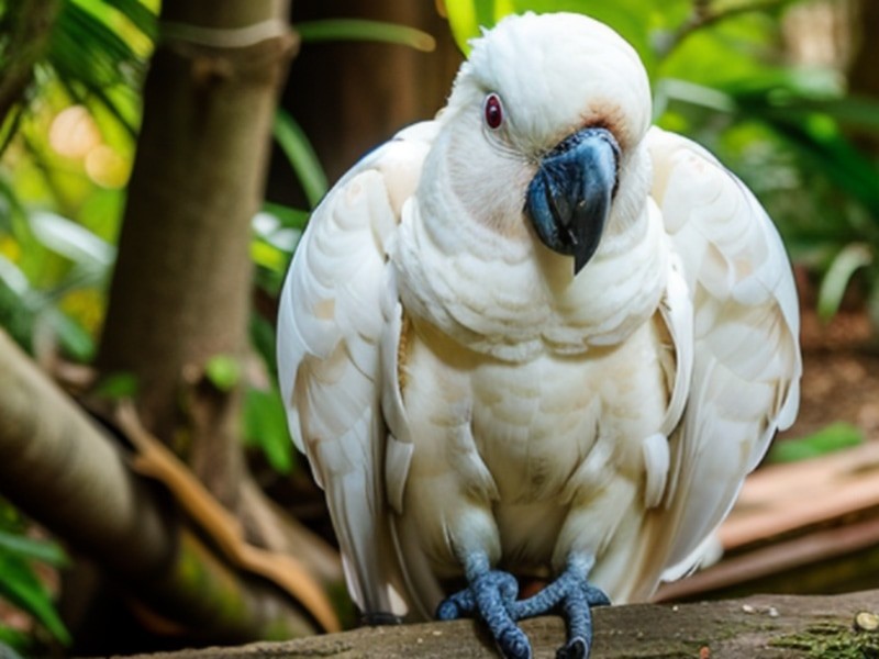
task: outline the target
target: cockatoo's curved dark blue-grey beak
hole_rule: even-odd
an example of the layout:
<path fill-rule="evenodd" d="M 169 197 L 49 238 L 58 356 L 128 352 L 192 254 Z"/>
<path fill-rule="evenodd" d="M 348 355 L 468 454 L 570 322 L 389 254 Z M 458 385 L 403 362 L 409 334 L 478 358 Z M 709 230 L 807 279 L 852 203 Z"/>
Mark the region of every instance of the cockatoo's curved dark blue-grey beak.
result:
<path fill-rule="evenodd" d="M 598 249 L 616 189 L 620 146 L 605 129 L 582 129 L 542 161 L 525 213 L 544 245 L 574 256 L 577 275 Z"/>

